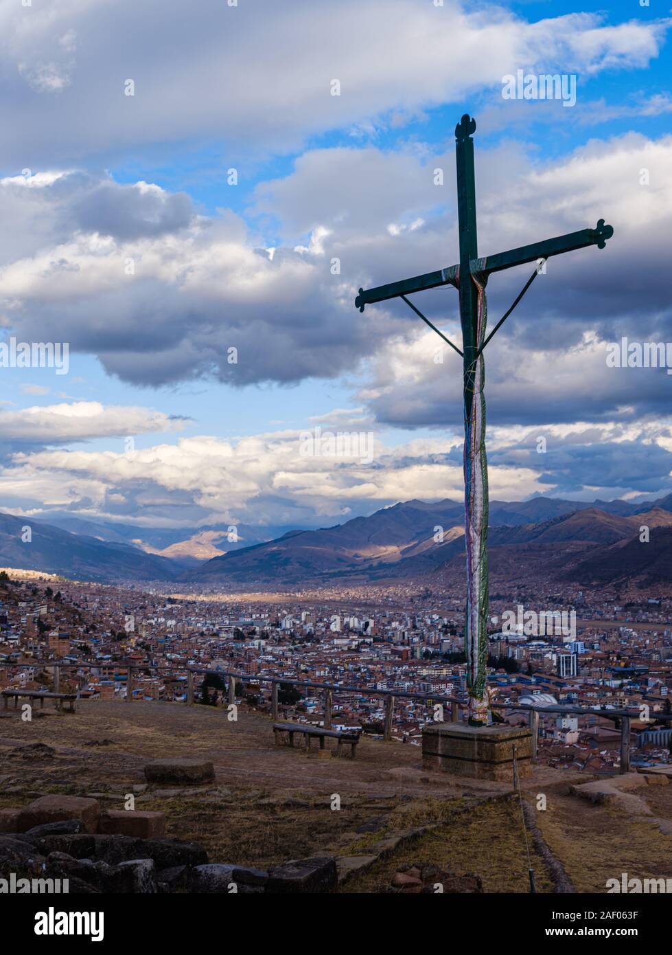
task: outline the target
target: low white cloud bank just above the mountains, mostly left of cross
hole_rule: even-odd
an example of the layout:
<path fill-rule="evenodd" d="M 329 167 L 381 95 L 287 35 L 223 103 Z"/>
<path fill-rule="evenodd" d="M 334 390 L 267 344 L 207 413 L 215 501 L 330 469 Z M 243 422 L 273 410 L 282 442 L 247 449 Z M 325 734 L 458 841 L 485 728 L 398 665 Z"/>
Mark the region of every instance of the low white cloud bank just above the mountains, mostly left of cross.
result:
<path fill-rule="evenodd" d="M 306 447 L 297 431 L 236 442 L 200 435 L 128 451 L 44 449 L 17 452 L 0 470 L 0 495 L 27 511 L 41 494 L 48 510 L 119 520 L 242 521 L 301 525 L 368 513 L 398 499 L 460 499 L 461 463 L 448 440 L 415 440 L 390 448 L 367 433 L 365 444 L 329 444 L 323 430 Z M 343 433 L 341 433 L 343 434 Z M 527 468 L 494 468 L 494 488 L 540 490 Z M 8 506 L 6 504 L 6 506 Z"/>

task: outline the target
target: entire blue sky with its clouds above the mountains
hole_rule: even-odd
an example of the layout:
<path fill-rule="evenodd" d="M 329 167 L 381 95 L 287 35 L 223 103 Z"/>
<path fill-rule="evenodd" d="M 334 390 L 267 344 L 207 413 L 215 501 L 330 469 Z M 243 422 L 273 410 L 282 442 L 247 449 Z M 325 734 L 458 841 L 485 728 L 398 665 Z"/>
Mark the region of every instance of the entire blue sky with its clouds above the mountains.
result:
<path fill-rule="evenodd" d="M 351 303 L 360 285 L 456 261 L 465 112 L 481 253 L 599 217 L 616 229 L 603 252 L 554 260 L 494 342 L 493 496 L 669 493 L 672 381 L 604 361 L 623 335 L 672 338 L 669 16 L 633 2 L 0 3 L 16 132 L 0 148 L 0 319 L 5 338 L 70 346 L 67 375 L 2 369 L 2 509 L 307 526 L 459 499 L 459 362 L 403 305 Z M 518 69 L 576 75 L 576 105 L 504 99 Z M 493 322 L 529 271 L 492 280 Z M 452 289 L 418 305 L 457 337 Z M 316 427 L 368 435 L 367 453 L 306 461 Z"/>

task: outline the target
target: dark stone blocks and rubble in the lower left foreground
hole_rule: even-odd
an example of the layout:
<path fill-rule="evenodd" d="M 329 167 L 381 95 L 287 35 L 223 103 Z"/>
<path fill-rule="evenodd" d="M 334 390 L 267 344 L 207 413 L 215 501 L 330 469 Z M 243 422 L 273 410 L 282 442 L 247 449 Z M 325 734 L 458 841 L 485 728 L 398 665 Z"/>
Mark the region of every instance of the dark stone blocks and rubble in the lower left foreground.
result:
<path fill-rule="evenodd" d="M 212 775 L 212 764 L 164 759 L 145 770 L 153 781 L 193 785 Z M 266 872 L 210 862 L 202 846 L 163 833 L 163 813 L 101 811 L 92 796 L 40 796 L 0 810 L 0 879 L 67 879 L 71 893 L 326 893 L 338 885 L 331 856 Z"/>

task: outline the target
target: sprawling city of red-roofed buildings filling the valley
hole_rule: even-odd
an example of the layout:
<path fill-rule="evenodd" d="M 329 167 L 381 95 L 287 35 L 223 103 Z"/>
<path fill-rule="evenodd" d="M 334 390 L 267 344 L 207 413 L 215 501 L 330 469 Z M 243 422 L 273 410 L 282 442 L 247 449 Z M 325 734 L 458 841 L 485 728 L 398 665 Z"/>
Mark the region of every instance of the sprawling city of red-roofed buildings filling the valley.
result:
<path fill-rule="evenodd" d="M 540 595 L 526 607 L 576 610 L 571 592 Z M 518 612 L 512 595 L 491 603 L 493 621 Z M 563 631 L 525 635 L 493 623 L 489 683 L 494 700 L 514 706 L 521 696 L 550 693 L 558 704 L 641 711 L 633 722 L 633 758 L 669 758 L 669 732 L 656 714 L 672 703 L 670 601 L 646 597 L 627 605 L 585 589 L 571 642 Z M 459 595 L 417 584 L 362 586 L 340 592 L 277 594 L 171 593 L 167 585 L 146 590 L 137 584 L 75 583 L 22 574 L 0 586 L 0 689 L 52 687 L 59 663 L 60 689 L 90 699 L 125 700 L 128 665 L 134 667 L 134 700 L 184 701 L 187 668 L 230 670 L 242 675 L 237 699 L 257 709 L 270 707 L 271 685 L 315 683 L 353 688 L 334 691 L 333 719 L 339 725 L 382 732 L 382 696 L 398 696 L 392 735 L 411 745 L 436 709 L 432 694 L 459 696 L 465 687 Z M 34 661 L 34 664 L 32 663 Z M 203 699 L 202 675 L 195 697 Z M 221 687 L 210 681 L 210 702 L 225 705 Z M 285 705 L 296 719 L 320 722 L 324 693 L 299 688 Z M 423 699 L 423 694 L 429 698 Z M 525 721 L 524 711 L 506 719 Z M 618 765 L 620 732 L 599 716 L 541 715 L 539 758 L 552 765 Z M 653 755 L 652 755 L 653 754 Z"/>

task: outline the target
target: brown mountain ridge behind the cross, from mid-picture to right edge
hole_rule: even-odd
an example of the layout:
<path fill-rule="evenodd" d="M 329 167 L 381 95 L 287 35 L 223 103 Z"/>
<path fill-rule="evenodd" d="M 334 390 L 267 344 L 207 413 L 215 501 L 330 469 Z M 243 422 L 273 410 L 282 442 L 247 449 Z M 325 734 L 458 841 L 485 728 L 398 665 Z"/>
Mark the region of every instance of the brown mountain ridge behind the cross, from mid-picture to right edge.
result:
<path fill-rule="evenodd" d="M 449 580 L 464 578 L 463 507 L 451 500 L 410 500 L 377 511 L 369 518 L 318 531 L 297 531 L 236 553 L 224 554 L 189 574 L 210 584 L 300 584 L 347 580 L 432 577 L 445 571 Z M 575 562 L 592 560 L 599 551 L 635 538 L 639 528 L 672 527 L 672 495 L 647 505 L 627 501 L 581 503 L 536 498 L 490 506 L 491 575 L 502 579 L 571 572 Z M 653 536 L 653 531 L 652 531 Z M 641 545 L 642 547 L 644 544 Z M 629 551 L 623 553 L 628 554 Z M 622 564 L 602 576 L 618 579 Z M 588 568 L 586 568 L 588 569 Z M 651 567 L 648 576 L 655 577 Z M 596 578 L 597 580 L 597 578 Z"/>

